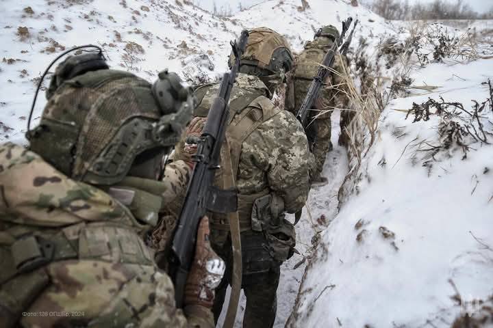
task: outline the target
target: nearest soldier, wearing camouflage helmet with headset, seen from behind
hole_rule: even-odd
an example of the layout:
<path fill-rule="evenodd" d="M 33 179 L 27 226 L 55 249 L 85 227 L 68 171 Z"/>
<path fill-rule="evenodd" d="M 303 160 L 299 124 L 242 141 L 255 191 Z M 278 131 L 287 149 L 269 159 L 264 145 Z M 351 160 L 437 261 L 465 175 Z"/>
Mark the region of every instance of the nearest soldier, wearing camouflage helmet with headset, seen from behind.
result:
<path fill-rule="evenodd" d="M 190 120 L 190 91 L 175 73 L 151 88 L 99 56 L 58 66 L 29 150 L 0 146 L 0 327 L 214 327 L 225 267 L 208 219 L 183 310 L 142 238 L 169 230 L 162 213 L 186 187 L 186 163 L 161 172 Z M 162 250 L 166 236 L 154 237 Z"/>

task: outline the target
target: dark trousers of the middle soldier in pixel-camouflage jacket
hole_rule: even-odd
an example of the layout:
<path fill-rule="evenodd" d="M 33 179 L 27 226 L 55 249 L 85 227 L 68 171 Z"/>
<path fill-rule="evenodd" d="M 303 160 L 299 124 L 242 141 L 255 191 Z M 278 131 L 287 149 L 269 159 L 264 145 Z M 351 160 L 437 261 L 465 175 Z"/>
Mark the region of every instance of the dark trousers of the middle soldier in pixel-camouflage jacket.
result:
<path fill-rule="evenodd" d="M 245 236 L 246 235 L 246 236 Z M 257 249 L 243 249 L 243 275 L 242 289 L 247 304 L 243 316 L 243 328 L 260 328 L 273 327 L 277 312 L 277 286 L 279 286 L 279 276 L 281 272 L 281 263 L 271 258 L 262 256 L 262 243 L 258 243 L 261 233 L 258 232 L 242 232 L 242 248 L 243 245 L 248 245 L 245 242 L 245 237 L 254 236 L 254 241 L 257 244 Z M 226 273 L 223 281 L 216 288 L 216 297 L 212 312 L 214 313 L 214 321 L 220 316 L 223 310 L 227 286 L 231 284 L 232 261 L 230 250 L 231 243 L 227 241 L 223 245 L 212 244 L 214 251 L 227 263 Z M 248 247 L 248 246 L 247 246 Z M 259 258 L 260 257 L 260 258 Z M 256 260 L 258 259 L 258 260 Z M 250 273 L 249 271 L 262 270 L 264 272 Z"/>

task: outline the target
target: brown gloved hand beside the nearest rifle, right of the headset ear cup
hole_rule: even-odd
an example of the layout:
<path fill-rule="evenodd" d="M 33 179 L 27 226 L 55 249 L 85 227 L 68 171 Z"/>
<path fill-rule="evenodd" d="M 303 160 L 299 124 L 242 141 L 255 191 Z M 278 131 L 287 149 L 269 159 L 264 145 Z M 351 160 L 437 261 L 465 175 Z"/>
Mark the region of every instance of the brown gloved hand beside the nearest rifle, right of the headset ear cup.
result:
<path fill-rule="evenodd" d="M 181 141 L 175 149 L 175 155 L 173 156 L 175 161 L 182 160 L 187 163 L 188 166 L 194 167 L 192 156 L 197 152 L 197 144 L 202 135 L 202 130 L 206 121 L 207 118 L 197 117 L 193 118 L 192 122 L 188 124 L 184 137 L 181 138 Z"/>

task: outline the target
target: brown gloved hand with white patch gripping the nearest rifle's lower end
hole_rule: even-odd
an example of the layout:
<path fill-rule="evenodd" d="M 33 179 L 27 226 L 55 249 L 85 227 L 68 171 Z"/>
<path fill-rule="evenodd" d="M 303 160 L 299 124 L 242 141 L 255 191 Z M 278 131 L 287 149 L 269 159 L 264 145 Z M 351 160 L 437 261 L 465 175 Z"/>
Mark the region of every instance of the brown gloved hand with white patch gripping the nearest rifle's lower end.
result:
<path fill-rule="evenodd" d="M 212 250 L 209 235 L 209 219 L 203 217 L 197 232 L 194 262 L 185 286 L 185 306 L 201 305 L 212 308 L 214 289 L 223 279 L 225 262 Z"/>

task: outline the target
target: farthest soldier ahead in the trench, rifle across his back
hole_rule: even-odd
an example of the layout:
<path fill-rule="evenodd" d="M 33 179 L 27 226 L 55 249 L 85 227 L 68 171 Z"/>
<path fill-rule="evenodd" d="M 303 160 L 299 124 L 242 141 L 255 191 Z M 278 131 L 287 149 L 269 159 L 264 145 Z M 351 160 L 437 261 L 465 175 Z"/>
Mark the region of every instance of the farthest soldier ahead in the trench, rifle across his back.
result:
<path fill-rule="evenodd" d="M 333 25 L 327 25 L 320 29 L 314 40 L 305 44 L 305 49 L 296 57 L 296 65 L 292 72 L 291 83 L 288 90 L 287 109 L 296 114 L 301 107 L 301 103 L 307 94 L 310 83 L 316 75 L 320 63 L 323 61 L 325 53 L 335 40 L 339 38 L 339 31 Z M 344 59 L 345 60 L 345 59 Z M 339 56 L 336 56 L 333 69 L 337 73 L 329 75 L 326 83 L 328 87 L 320 91 L 320 96 L 315 102 L 314 109 L 307 120 L 307 137 L 310 149 L 315 156 L 315 167 L 312 176 L 314 184 L 323 184 L 327 178 L 321 176 L 327 152 L 332 149 L 331 143 L 331 113 L 334 108 L 346 109 L 349 98 L 344 93 L 344 82 L 340 74 L 344 71 L 343 63 Z M 339 138 L 340 146 L 346 145 L 348 137 L 346 126 L 353 118 L 350 111 L 341 111 L 340 126 L 341 135 Z"/>

